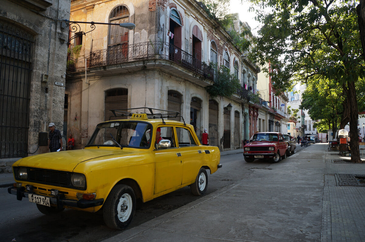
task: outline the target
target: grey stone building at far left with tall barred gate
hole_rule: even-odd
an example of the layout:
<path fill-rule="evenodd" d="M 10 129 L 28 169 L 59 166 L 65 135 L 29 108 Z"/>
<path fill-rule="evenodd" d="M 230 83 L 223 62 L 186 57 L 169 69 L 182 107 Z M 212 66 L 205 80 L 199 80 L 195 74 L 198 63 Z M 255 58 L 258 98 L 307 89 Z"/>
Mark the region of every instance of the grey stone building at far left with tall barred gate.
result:
<path fill-rule="evenodd" d="M 69 28 L 59 20 L 69 9 L 70 0 L 1 1 L 0 172 L 48 151 L 49 122 L 62 132 Z"/>

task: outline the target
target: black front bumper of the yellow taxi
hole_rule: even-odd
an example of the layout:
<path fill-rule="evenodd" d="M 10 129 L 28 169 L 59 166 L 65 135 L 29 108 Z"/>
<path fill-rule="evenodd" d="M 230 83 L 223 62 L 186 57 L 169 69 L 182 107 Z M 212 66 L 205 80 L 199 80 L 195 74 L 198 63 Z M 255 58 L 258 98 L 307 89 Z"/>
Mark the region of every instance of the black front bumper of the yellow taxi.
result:
<path fill-rule="evenodd" d="M 30 192 L 25 190 L 25 187 L 9 187 L 9 194 L 16 195 L 16 199 L 21 201 L 23 198 L 28 198 L 28 194 L 36 194 L 35 192 Z M 44 196 L 44 195 L 42 195 Z M 72 200 L 66 199 L 64 194 L 58 194 L 56 196 L 46 196 L 50 199 L 50 203 L 56 205 L 57 207 L 69 206 L 69 207 L 77 207 L 77 208 L 89 208 L 101 206 L 104 203 L 104 198 L 95 199 L 95 200 Z"/>

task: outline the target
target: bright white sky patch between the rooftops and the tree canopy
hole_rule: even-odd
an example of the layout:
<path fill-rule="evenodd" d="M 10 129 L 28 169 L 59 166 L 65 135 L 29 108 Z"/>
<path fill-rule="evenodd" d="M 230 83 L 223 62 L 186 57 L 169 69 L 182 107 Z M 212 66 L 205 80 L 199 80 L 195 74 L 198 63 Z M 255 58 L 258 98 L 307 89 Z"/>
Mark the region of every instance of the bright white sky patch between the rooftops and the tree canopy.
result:
<path fill-rule="evenodd" d="M 250 4 L 246 1 L 243 1 L 241 3 L 241 0 L 231 0 L 230 1 L 230 11 L 231 13 L 237 13 L 239 14 L 239 20 L 242 22 L 247 22 L 249 26 L 251 27 L 251 31 L 253 34 L 257 33 L 257 30 L 255 28 L 258 26 L 258 22 L 255 21 L 254 12 L 249 12 Z"/>

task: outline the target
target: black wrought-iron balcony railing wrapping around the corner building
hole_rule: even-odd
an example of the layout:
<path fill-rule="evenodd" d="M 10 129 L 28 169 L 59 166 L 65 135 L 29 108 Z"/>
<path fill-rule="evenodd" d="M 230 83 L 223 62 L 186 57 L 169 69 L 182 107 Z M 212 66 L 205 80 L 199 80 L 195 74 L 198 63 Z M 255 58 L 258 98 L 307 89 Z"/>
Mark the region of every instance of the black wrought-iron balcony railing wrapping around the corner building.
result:
<path fill-rule="evenodd" d="M 144 60 L 169 60 L 203 77 L 214 81 L 214 69 L 194 58 L 188 52 L 173 44 L 149 41 L 130 45 L 120 45 L 90 52 L 89 67 L 100 67 Z"/>

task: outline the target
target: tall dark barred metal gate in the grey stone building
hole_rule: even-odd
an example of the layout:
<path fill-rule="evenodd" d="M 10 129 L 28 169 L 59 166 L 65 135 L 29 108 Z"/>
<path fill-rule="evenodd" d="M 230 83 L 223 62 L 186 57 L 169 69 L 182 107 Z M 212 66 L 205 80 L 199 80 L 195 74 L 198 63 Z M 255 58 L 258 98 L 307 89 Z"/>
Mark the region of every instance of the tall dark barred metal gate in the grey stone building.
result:
<path fill-rule="evenodd" d="M 0 158 L 28 151 L 32 46 L 30 33 L 0 20 Z"/>

